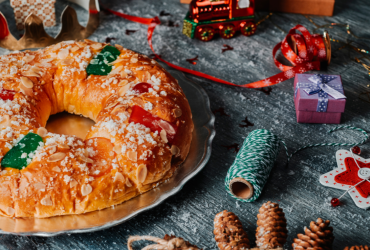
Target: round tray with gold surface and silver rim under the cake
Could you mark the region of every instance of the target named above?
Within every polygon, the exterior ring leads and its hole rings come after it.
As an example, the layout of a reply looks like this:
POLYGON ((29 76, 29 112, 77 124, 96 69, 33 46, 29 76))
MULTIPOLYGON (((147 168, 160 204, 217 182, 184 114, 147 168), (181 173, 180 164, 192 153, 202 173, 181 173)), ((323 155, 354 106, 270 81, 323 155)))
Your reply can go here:
POLYGON ((187 181, 199 173, 211 156, 211 144, 215 136, 215 118, 210 109, 209 98, 200 85, 186 79, 183 73, 165 68, 179 81, 184 90, 194 121, 189 155, 174 176, 145 194, 100 211, 44 219, 0 216, 0 233, 50 237, 107 229, 158 206, 168 197, 179 192, 187 181))

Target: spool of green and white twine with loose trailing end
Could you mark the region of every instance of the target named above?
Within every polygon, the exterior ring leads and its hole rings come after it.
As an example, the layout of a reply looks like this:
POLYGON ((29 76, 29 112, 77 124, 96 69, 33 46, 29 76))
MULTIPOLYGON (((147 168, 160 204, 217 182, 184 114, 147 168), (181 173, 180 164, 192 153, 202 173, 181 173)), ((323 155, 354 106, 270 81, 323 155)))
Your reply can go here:
POLYGON ((266 129, 257 129, 252 131, 244 140, 242 148, 236 155, 233 165, 230 167, 225 186, 227 192, 235 199, 242 202, 255 201, 262 193, 270 172, 278 156, 280 143, 283 144, 288 161, 297 152, 312 147, 319 146, 356 146, 363 144, 368 139, 366 131, 352 126, 338 126, 329 131, 329 133, 338 129, 347 128, 360 131, 365 138, 358 143, 318 143, 310 144, 296 150, 291 155, 288 154, 284 141, 266 129))

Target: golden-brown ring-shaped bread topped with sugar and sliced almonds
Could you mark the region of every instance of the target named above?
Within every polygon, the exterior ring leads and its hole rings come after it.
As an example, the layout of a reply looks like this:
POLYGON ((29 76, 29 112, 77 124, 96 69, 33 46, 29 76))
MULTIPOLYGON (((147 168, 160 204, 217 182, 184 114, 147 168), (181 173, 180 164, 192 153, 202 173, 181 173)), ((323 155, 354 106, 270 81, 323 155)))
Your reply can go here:
POLYGON ((50 217, 120 204, 172 176, 190 148, 193 121, 177 83, 156 61, 116 45, 108 76, 86 74, 106 44, 62 42, 0 56, 0 158, 28 132, 43 137, 28 166, 0 173, 0 215, 50 217), (150 83, 148 93, 132 88, 150 83), (129 123, 134 105, 178 126, 172 147, 163 135, 129 123), (51 114, 67 111, 96 122, 85 140, 47 132, 51 114))

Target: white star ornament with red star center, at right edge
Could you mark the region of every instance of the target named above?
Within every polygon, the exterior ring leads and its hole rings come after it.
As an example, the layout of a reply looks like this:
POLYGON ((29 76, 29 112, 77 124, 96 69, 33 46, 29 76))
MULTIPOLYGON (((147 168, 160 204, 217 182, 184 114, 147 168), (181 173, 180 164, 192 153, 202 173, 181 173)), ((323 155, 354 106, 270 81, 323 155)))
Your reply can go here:
POLYGON ((324 186, 349 190, 355 204, 363 209, 370 207, 370 159, 351 154, 348 150, 336 153, 338 168, 320 176, 324 186), (353 158, 355 157, 355 159, 353 158), (352 188, 354 187, 354 188, 352 188))

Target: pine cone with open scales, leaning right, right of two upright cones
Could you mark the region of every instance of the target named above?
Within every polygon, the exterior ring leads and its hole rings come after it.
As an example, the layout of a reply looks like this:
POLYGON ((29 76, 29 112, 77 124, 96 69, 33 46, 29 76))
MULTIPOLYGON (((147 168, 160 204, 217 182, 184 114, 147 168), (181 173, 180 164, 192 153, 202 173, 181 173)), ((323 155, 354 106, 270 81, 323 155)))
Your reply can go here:
POLYGON ((329 227, 330 221, 311 221, 310 229, 304 228, 305 234, 298 234, 292 244, 294 250, 331 250, 333 245, 333 228, 329 227))

